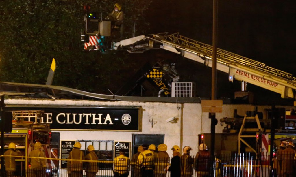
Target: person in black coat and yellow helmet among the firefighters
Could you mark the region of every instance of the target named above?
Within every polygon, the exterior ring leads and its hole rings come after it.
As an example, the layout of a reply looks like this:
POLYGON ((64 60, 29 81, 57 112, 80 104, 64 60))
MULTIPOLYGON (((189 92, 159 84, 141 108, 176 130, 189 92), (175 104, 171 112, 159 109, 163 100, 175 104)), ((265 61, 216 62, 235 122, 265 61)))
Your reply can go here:
POLYGON ((171 177, 180 177, 181 176, 180 148, 178 145, 174 145, 171 150, 173 151, 173 158, 170 161, 170 167, 167 166, 167 170, 170 171, 171 177))

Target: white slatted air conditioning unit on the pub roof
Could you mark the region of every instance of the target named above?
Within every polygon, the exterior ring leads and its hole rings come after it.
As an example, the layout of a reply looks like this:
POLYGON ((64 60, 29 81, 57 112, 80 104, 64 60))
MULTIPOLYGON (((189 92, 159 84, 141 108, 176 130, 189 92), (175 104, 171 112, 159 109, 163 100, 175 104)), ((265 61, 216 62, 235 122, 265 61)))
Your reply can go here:
POLYGON ((172 82, 172 97, 195 97, 195 83, 172 82))

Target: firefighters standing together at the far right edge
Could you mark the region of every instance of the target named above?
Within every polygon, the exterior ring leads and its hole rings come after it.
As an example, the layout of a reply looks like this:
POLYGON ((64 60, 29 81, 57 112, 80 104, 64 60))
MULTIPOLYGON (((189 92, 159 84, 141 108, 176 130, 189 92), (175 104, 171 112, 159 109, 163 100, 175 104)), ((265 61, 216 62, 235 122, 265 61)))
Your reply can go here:
POLYGON ((295 176, 296 150, 292 141, 282 141, 277 155, 273 158, 274 174, 280 177, 295 176))

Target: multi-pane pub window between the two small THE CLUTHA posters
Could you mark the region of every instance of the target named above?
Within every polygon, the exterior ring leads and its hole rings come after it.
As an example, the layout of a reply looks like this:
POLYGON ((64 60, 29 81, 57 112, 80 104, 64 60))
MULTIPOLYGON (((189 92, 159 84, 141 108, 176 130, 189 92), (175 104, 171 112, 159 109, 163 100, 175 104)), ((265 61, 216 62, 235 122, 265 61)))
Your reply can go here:
POLYGON ((99 163, 100 170, 112 170, 113 168, 113 154, 114 154, 114 141, 110 140, 78 140, 81 143, 81 150, 84 155, 88 154, 87 147, 94 146, 94 151, 98 156, 98 160, 104 162, 99 163))

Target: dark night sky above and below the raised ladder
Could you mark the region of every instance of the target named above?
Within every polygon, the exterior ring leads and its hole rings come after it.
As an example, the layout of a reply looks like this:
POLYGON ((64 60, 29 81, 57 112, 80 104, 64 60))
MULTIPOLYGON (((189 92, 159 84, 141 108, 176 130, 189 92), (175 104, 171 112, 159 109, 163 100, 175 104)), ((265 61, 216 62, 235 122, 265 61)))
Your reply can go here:
MULTIPOLYGON (((212 0, 153 1, 147 16, 149 33, 180 32, 180 35, 212 45, 212 0)), ((296 1, 218 0, 218 48, 266 63, 295 77, 295 5, 296 1)), ((160 58, 178 60, 178 56, 168 53, 160 58)), ((197 83, 198 96, 210 96, 211 68, 177 60, 176 68, 187 71, 183 79, 197 83)), ((182 76, 182 72, 180 74, 182 76)), ((234 91, 240 90, 240 83, 229 83, 227 74, 218 73, 217 87, 217 97, 233 98, 234 91)), ((250 84, 248 88, 255 91, 260 100, 280 99, 279 94, 266 89, 250 84)))

